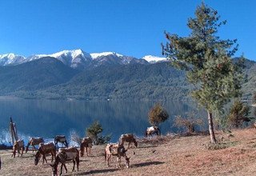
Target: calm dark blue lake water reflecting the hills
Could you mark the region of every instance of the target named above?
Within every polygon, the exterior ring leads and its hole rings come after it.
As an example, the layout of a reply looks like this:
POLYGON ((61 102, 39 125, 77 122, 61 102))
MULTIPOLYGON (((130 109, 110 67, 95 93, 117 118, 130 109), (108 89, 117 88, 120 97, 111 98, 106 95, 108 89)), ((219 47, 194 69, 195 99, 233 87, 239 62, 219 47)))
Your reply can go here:
MULTIPOLYGON (((155 102, 122 101, 62 101, 30 100, 22 98, 0 98, 0 142, 9 142, 10 116, 16 123, 18 135, 26 141, 29 137, 54 138, 57 134, 70 137, 76 131, 81 137, 86 127, 98 120, 103 127, 102 134, 112 134, 111 142, 116 142, 121 134, 134 133, 142 136, 150 126, 147 114, 155 102)), ((160 125, 162 134, 175 133, 173 118, 193 112, 206 116, 192 102, 162 102, 170 118, 160 125)))

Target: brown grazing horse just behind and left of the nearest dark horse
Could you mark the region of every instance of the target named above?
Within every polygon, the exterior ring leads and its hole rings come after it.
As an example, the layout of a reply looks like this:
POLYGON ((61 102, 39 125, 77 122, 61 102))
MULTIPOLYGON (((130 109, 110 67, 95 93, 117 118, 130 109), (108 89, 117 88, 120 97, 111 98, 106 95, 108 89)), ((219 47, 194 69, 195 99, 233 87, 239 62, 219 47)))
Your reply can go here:
POLYGON ((34 156, 35 157, 34 158, 34 165, 38 165, 38 162, 39 162, 39 159, 41 158, 41 155, 42 155, 42 164, 45 161, 47 163, 46 154, 51 154, 51 162, 53 162, 54 158, 56 156, 56 150, 55 150, 55 146, 54 146, 53 142, 46 143, 46 144, 41 143, 39 145, 38 151, 34 156))

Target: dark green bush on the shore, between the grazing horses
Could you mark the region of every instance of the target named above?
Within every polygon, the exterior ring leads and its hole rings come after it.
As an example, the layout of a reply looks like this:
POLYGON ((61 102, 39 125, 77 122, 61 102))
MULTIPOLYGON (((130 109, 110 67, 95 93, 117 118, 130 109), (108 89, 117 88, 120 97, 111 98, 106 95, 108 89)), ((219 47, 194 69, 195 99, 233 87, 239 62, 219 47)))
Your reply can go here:
POLYGON ((94 145, 106 144, 110 141, 111 134, 102 136, 100 135, 103 131, 100 122, 93 122, 88 128, 86 128, 86 136, 89 136, 94 141, 94 145))

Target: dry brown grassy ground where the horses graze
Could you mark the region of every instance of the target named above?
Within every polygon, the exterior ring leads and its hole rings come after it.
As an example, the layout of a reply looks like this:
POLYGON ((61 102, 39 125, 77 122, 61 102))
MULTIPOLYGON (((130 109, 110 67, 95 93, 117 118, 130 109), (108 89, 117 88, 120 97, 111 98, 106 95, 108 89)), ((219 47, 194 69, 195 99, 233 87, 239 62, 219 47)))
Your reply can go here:
MULTIPOLYGON (((127 151, 130 168, 116 169, 116 158, 106 166, 105 146, 93 146, 91 157, 80 158, 79 171, 71 172, 73 163, 67 164, 64 175, 255 175, 256 130, 233 130, 232 135, 217 133, 225 149, 208 150, 210 137, 165 138, 160 143, 138 143, 138 148, 127 151)), ((155 139, 153 139, 155 140, 155 139)), ((49 163, 34 166, 34 154, 29 151, 22 157, 11 158, 10 150, 0 150, 1 175, 51 175, 49 163)), ((50 162, 50 156, 47 157, 50 162)))

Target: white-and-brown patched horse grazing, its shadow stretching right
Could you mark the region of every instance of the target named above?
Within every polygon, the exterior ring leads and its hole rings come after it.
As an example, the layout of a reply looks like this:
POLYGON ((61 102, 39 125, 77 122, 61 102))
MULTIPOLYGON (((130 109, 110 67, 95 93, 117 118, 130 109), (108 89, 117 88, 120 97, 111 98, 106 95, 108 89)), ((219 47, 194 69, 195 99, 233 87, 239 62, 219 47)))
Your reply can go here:
POLYGON ((124 146, 119 146, 118 144, 107 144, 105 148, 105 160, 106 165, 110 166, 110 157, 111 155, 117 156, 117 168, 121 167, 121 157, 126 159, 126 167, 130 167, 130 158, 126 156, 126 149, 124 146))

